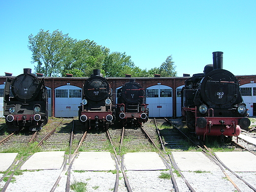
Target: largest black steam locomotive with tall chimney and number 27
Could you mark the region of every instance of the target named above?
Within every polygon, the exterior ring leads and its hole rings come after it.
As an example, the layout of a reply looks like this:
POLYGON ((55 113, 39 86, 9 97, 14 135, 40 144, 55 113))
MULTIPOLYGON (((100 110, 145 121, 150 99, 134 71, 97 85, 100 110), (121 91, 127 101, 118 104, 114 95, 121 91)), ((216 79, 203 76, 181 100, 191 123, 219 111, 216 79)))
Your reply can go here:
POLYGON ((182 114, 187 127, 203 139, 213 135, 224 141, 224 135, 230 139, 240 134, 240 127, 250 126, 238 81, 223 69, 223 52, 213 52, 213 64, 185 81, 182 114))

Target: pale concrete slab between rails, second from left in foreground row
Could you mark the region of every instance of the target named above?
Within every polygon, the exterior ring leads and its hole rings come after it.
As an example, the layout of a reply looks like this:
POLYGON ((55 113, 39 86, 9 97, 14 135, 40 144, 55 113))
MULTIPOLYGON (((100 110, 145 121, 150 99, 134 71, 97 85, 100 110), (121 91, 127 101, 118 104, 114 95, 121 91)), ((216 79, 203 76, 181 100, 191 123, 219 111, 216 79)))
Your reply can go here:
POLYGON ((35 153, 21 166, 21 169, 60 169, 64 161, 64 154, 64 151, 43 151, 35 153))

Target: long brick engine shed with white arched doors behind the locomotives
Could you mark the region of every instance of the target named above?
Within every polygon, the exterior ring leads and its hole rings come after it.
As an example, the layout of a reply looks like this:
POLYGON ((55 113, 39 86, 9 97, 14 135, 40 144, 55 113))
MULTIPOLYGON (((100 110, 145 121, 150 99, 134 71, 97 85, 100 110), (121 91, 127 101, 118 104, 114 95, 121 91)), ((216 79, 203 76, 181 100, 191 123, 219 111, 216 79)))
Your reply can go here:
MULTIPOLYGON (((5 73, 11 75, 10 73, 5 73)), ((45 77, 49 95, 49 114, 55 117, 77 116, 81 102, 81 90, 88 77, 45 77)), ((236 76, 250 116, 256 116, 256 75, 236 76)), ((131 77, 146 90, 146 103, 150 117, 181 116, 180 91, 189 77, 131 77)), ((129 77, 106 78, 113 90, 113 104, 116 104, 116 90, 129 81, 129 77)), ((0 116, 2 116, 3 89, 6 76, 0 76, 0 116)))

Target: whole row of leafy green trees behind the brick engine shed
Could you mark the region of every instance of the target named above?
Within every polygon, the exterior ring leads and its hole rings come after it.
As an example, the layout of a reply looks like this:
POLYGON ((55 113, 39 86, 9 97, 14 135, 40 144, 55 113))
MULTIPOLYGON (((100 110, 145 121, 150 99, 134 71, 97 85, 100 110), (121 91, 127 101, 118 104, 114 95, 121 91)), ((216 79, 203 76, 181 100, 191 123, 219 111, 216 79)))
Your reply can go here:
POLYGON ((150 70, 140 69, 126 53, 112 52, 109 48, 97 45, 89 39, 72 39, 61 31, 40 30, 35 36, 29 35, 29 49, 32 51, 32 63, 35 71, 44 76, 65 76, 66 73, 76 77, 90 76, 93 69, 101 69, 106 77, 162 77, 176 76, 174 62, 169 56, 160 67, 150 70))

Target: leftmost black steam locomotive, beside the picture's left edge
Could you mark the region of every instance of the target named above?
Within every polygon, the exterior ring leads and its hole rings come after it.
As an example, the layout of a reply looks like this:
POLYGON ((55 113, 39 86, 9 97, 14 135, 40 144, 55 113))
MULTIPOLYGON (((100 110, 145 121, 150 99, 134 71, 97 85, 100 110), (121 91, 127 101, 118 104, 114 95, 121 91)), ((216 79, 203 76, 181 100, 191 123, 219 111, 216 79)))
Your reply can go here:
POLYGON ((36 77, 30 68, 17 77, 7 77, 3 96, 3 115, 7 129, 40 130, 48 122, 48 102, 44 78, 36 77))

